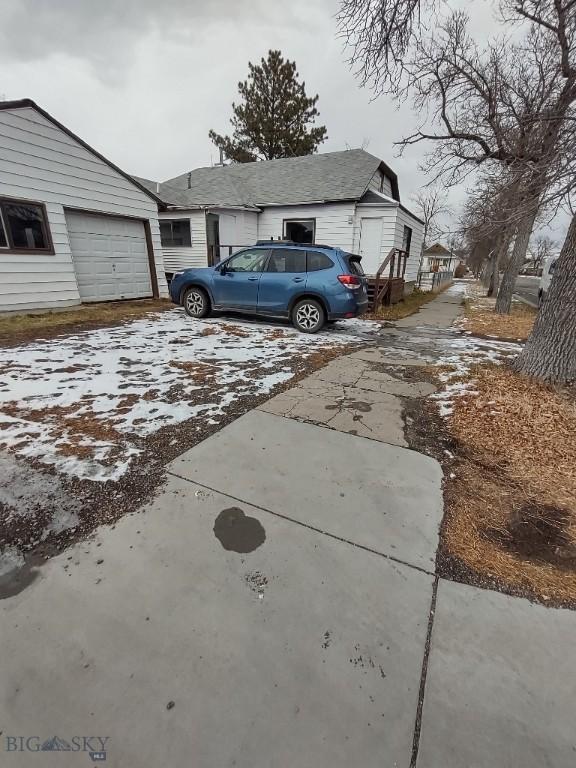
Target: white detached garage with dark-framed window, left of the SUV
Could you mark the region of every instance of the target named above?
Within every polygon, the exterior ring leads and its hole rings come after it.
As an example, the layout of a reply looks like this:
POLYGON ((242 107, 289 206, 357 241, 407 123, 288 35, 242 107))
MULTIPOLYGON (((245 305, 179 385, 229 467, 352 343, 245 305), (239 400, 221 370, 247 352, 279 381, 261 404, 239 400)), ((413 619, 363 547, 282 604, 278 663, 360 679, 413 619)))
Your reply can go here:
POLYGON ((167 295, 159 202, 33 101, 0 102, 0 311, 167 295))

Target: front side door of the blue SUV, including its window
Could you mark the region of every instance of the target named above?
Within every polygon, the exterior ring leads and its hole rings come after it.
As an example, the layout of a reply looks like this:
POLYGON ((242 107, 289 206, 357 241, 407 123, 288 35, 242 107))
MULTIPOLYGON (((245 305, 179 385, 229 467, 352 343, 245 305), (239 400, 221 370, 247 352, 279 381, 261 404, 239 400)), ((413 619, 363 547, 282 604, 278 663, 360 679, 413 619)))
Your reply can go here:
POLYGON ((212 291, 219 307, 256 310, 258 306, 258 284, 266 264, 269 251, 263 248, 249 248, 234 254, 226 262, 224 273, 214 273, 212 291))

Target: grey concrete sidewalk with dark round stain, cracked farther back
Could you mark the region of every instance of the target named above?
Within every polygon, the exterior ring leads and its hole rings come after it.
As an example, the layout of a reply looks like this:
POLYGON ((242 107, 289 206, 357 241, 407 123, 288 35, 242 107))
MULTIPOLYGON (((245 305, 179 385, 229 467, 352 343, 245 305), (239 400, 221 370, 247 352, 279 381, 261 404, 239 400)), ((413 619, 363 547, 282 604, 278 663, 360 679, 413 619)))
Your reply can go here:
POLYGON ((442 472, 402 411, 459 304, 183 454, 152 504, 2 601, 3 746, 96 735, 115 768, 573 766, 576 614, 434 575, 442 472))

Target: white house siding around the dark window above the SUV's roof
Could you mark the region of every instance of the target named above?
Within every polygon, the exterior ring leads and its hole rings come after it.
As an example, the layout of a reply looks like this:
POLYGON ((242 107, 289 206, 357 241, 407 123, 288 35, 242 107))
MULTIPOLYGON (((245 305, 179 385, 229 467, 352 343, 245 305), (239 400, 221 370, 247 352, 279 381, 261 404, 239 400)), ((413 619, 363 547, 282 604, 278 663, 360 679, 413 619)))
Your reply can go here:
POLYGON ((350 251, 354 238, 354 203, 323 203, 264 208, 258 216, 258 239, 282 238, 284 219, 316 219, 316 242, 350 251))

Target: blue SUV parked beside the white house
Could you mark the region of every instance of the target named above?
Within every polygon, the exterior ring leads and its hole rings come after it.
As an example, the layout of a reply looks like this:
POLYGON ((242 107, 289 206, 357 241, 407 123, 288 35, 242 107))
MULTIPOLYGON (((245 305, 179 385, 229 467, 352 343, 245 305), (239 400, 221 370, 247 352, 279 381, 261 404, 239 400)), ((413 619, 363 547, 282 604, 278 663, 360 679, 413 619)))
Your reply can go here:
POLYGON ((360 256, 325 245, 259 241, 215 267, 177 272, 170 295, 190 317, 212 310, 289 318, 303 333, 368 307, 360 256))

